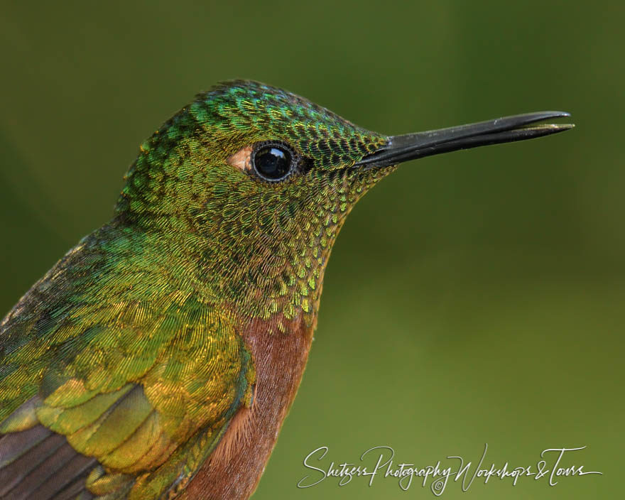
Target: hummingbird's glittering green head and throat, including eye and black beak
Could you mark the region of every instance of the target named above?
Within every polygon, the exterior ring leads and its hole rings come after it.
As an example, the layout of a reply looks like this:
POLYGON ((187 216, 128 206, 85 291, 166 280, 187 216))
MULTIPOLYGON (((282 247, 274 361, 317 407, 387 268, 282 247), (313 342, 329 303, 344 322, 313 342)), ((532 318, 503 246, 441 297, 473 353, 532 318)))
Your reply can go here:
POLYGON ((278 330, 298 315, 310 325, 347 214, 398 163, 553 134, 570 126, 528 124, 566 115, 384 136, 285 90, 224 82, 143 143, 116 215, 166 242, 205 300, 278 330))

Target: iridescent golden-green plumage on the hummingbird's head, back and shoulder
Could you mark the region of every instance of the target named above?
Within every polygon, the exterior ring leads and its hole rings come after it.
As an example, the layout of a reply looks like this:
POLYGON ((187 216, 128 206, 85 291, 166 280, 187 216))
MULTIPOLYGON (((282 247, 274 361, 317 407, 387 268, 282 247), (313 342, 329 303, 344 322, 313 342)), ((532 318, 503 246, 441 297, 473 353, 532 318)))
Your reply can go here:
POLYGON ((242 322, 284 335, 284 320, 315 321, 347 213, 391 170, 345 167, 384 141, 256 82, 200 94, 143 143, 112 222, 2 322, 0 434, 67 437, 94 459, 92 496, 175 495, 251 404, 242 322), (305 158, 299 175, 266 183, 226 164, 268 139, 305 158))

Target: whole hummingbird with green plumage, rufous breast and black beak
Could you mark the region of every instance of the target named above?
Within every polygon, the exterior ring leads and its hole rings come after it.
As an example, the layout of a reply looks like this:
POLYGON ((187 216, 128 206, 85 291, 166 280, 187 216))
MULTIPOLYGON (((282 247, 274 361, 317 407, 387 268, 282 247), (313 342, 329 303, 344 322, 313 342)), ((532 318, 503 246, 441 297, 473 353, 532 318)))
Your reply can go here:
POLYGON ((399 163, 563 116, 386 136, 260 82, 198 94, 0 322, 0 499, 249 498, 356 202, 399 163))

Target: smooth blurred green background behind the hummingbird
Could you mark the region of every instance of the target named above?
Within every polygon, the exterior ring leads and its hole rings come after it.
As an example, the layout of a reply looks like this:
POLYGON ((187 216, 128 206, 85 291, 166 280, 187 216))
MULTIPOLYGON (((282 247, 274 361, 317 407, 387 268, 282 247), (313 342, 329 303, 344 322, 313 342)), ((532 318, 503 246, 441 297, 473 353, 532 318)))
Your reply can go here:
MULTIPOLYGON (((376 445, 603 476, 477 482, 480 499, 617 498, 624 431, 621 2, 2 1, 0 309, 107 222, 138 144, 246 77, 398 134, 542 109, 577 128, 408 163, 352 212, 298 398, 254 498, 433 498, 391 479, 309 489, 303 457, 376 445)), ((452 464, 452 462, 449 462, 452 464)))

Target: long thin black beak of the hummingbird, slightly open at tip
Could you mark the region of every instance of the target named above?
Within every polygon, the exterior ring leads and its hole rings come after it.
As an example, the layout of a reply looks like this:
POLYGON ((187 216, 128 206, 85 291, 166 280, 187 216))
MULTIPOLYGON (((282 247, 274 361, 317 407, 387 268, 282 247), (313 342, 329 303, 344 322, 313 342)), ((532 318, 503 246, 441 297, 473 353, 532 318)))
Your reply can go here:
POLYGON ((538 121, 561 118, 562 116, 570 116, 570 114, 560 111, 517 114, 481 121, 477 124, 453 126, 449 129, 391 136, 386 146, 365 156, 356 163, 356 166, 364 168, 388 167, 424 156, 503 142, 525 141, 526 139, 548 136, 572 129, 574 126, 572 124, 536 124, 538 121), (529 126, 530 124, 536 125, 529 126))

